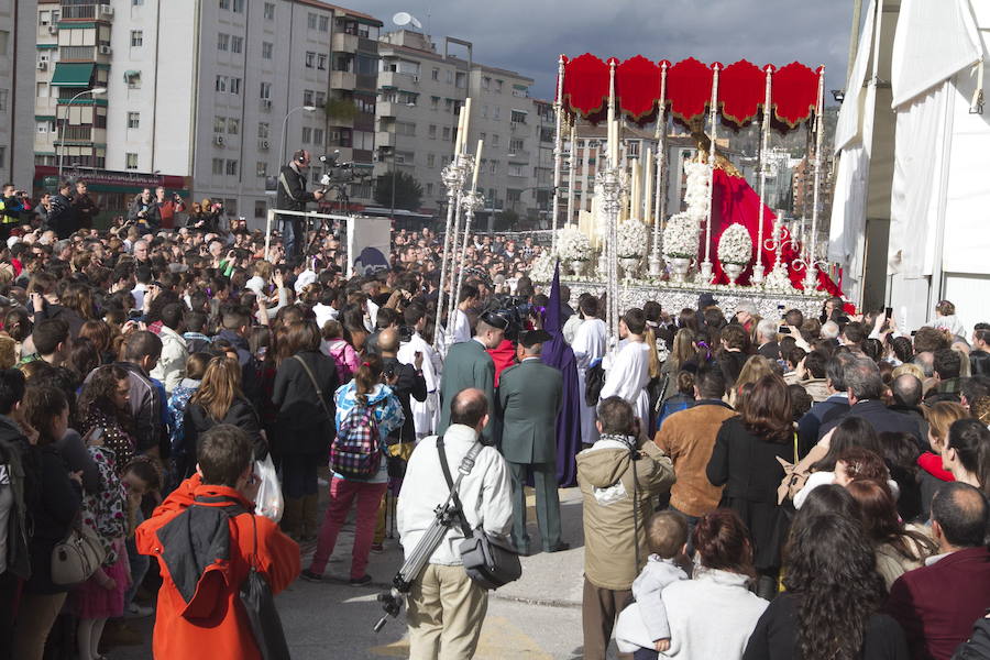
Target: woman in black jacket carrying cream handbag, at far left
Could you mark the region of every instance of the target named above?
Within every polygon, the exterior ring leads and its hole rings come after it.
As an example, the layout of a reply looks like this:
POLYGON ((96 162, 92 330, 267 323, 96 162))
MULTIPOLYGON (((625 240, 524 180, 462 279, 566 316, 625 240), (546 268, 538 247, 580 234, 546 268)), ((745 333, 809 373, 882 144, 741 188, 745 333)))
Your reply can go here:
POLYGON ((41 660, 48 631, 65 603, 68 587, 52 581, 52 552, 68 534, 82 502, 80 474, 66 472, 55 441, 68 429, 68 402, 48 385, 29 387, 21 404, 24 422, 37 435, 32 458, 37 487, 28 501, 32 535, 31 578, 18 612, 13 657, 41 660))

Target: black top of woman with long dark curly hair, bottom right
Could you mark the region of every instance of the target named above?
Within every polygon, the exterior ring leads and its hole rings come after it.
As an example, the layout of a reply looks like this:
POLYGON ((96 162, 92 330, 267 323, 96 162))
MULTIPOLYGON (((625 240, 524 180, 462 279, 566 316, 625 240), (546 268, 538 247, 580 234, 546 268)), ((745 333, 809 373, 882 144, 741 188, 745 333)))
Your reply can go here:
MULTIPOLYGON (((749 636, 743 660, 791 660, 800 658, 798 650, 798 596, 783 593, 763 610, 749 636)), ((862 639, 865 660, 909 660, 904 630, 892 617, 873 614, 867 622, 862 639)), ((974 656, 983 658, 985 656, 974 656)), ((966 656, 969 658, 969 656, 966 656)))

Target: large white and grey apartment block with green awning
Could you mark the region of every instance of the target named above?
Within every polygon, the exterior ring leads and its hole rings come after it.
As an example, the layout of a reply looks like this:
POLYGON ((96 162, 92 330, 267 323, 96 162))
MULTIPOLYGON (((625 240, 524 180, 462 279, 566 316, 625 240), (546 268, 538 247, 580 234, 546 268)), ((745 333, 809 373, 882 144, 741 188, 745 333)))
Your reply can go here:
MULTIPOLYGON (((36 14, 46 174, 61 161, 96 179, 183 177, 193 197, 257 227, 274 201, 266 179, 295 150, 340 150, 371 170, 373 16, 319 0, 40 0, 36 14)), ((102 206, 123 208, 123 188, 102 206)), ((367 201, 371 185, 350 193, 367 201)))

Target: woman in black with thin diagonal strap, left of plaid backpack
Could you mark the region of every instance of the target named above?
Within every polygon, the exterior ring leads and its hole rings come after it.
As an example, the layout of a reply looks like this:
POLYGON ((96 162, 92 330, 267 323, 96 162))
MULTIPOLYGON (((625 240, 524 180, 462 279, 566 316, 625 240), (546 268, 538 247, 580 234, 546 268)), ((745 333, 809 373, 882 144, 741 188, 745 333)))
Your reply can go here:
POLYGON ((285 342, 292 358, 278 365, 272 392, 282 431, 275 442, 285 494, 282 528, 305 540, 316 538, 319 529, 317 468, 327 464, 330 441, 337 432, 333 394, 340 383, 337 363, 320 352, 320 330, 315 321, 290 323, 285 342))

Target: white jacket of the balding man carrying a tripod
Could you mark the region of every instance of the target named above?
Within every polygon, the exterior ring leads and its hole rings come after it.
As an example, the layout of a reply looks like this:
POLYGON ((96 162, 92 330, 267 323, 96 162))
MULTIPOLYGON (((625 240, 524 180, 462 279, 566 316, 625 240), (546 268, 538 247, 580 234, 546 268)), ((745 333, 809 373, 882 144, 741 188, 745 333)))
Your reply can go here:
MULTIPOLYGON (((459 424, 451 425, 443 433, 447 464, 454 481, 458 479, 461 459, 474 444, 475 438, 474 429, 459 424)), ((425 438, 409 457, 404 487, 398 498, 396 520, 406 559, 437 518, 433 509, 443 504, 449 495, 450 488, 447 487, 447 480, 440 468, 437 438, 425 438)), ((481 525, 488 534, 503 537, 508 535, 513 526, 512 486, 505 459, 497 449, 485 447, 481 450, 471 473, 461 481, 458 496, 464 506, 464 517, 472 528, 481 525)), ((451 527, 430 557, 430 563, 461 565, 458 546, 463 538, 460 526, 451 527)))

